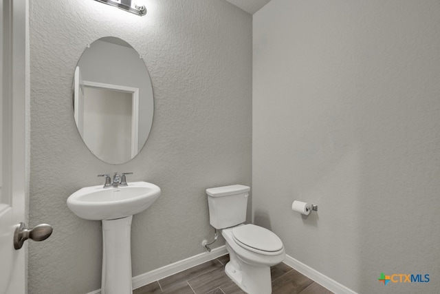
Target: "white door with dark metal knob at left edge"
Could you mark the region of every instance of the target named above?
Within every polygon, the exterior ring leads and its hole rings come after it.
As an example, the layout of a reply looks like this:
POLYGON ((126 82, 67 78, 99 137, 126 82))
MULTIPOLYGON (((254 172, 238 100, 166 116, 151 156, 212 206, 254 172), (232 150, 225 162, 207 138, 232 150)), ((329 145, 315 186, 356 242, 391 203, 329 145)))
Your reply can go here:
POLYGON ((16 224, 25 221, 26 1, 0 0, 0 294, 24 294, 25 250, 15 250, 16 224))

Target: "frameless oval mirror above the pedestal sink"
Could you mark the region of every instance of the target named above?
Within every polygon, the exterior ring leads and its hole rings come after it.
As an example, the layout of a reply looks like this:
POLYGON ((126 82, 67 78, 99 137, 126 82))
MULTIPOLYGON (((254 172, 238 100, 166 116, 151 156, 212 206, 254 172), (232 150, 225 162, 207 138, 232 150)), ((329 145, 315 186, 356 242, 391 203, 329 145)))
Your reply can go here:
POLYGON ((72 88, 76 127, 91 153, 115 165, 135 157, 154 110, 150 75, 136 50, 111 36, 94 41, 76 65, 72 88))

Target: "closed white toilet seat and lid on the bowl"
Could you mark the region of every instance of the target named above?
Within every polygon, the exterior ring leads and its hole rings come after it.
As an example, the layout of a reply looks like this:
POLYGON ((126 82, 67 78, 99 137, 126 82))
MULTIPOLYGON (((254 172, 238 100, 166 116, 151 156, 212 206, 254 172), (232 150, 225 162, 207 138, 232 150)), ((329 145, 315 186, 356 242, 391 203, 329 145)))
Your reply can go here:
POLYGON ((283 242, 275 233, 254 224, 232 229, 232 239, 244 249, 263 255, 278 255, 284 250, 283 242))

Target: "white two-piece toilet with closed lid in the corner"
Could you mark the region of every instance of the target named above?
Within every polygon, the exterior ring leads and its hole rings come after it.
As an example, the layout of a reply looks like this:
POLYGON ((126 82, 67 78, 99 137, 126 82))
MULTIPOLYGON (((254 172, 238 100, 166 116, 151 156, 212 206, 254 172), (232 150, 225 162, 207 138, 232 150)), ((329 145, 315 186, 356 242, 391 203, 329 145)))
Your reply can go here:
POLYGON ((230 262, 225 273, 248 294, 272 293, 270 266, 283 262, 283 242, 272 231, 244 224, 250 187, 206 189, 210 224, 221 229, 230 262))

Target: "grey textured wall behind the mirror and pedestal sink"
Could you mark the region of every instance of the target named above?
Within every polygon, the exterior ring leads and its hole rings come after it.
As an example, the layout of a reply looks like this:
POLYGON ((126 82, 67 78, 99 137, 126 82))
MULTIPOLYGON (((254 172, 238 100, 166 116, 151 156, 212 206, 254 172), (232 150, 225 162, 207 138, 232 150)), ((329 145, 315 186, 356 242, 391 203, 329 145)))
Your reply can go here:
MULTIPOLYGON (((251 184, 252 17, 226 1, 148 0, 137 17, 97 1, 30 1, 30 224, 54 233, 29 246, 29 293, 100 288, 101 225, 67 197, 97 174, 133 171, 162 196, 133 218, 133 275, 203 252, 212 238, 205 189, 251 184), (130 162, 89 153, 72 115, 74 68, 87 43, 124 39, 142 56, 155 96, 153 128, 130 162)), ((217 243, 217 246, 221 242, 217 243)))

